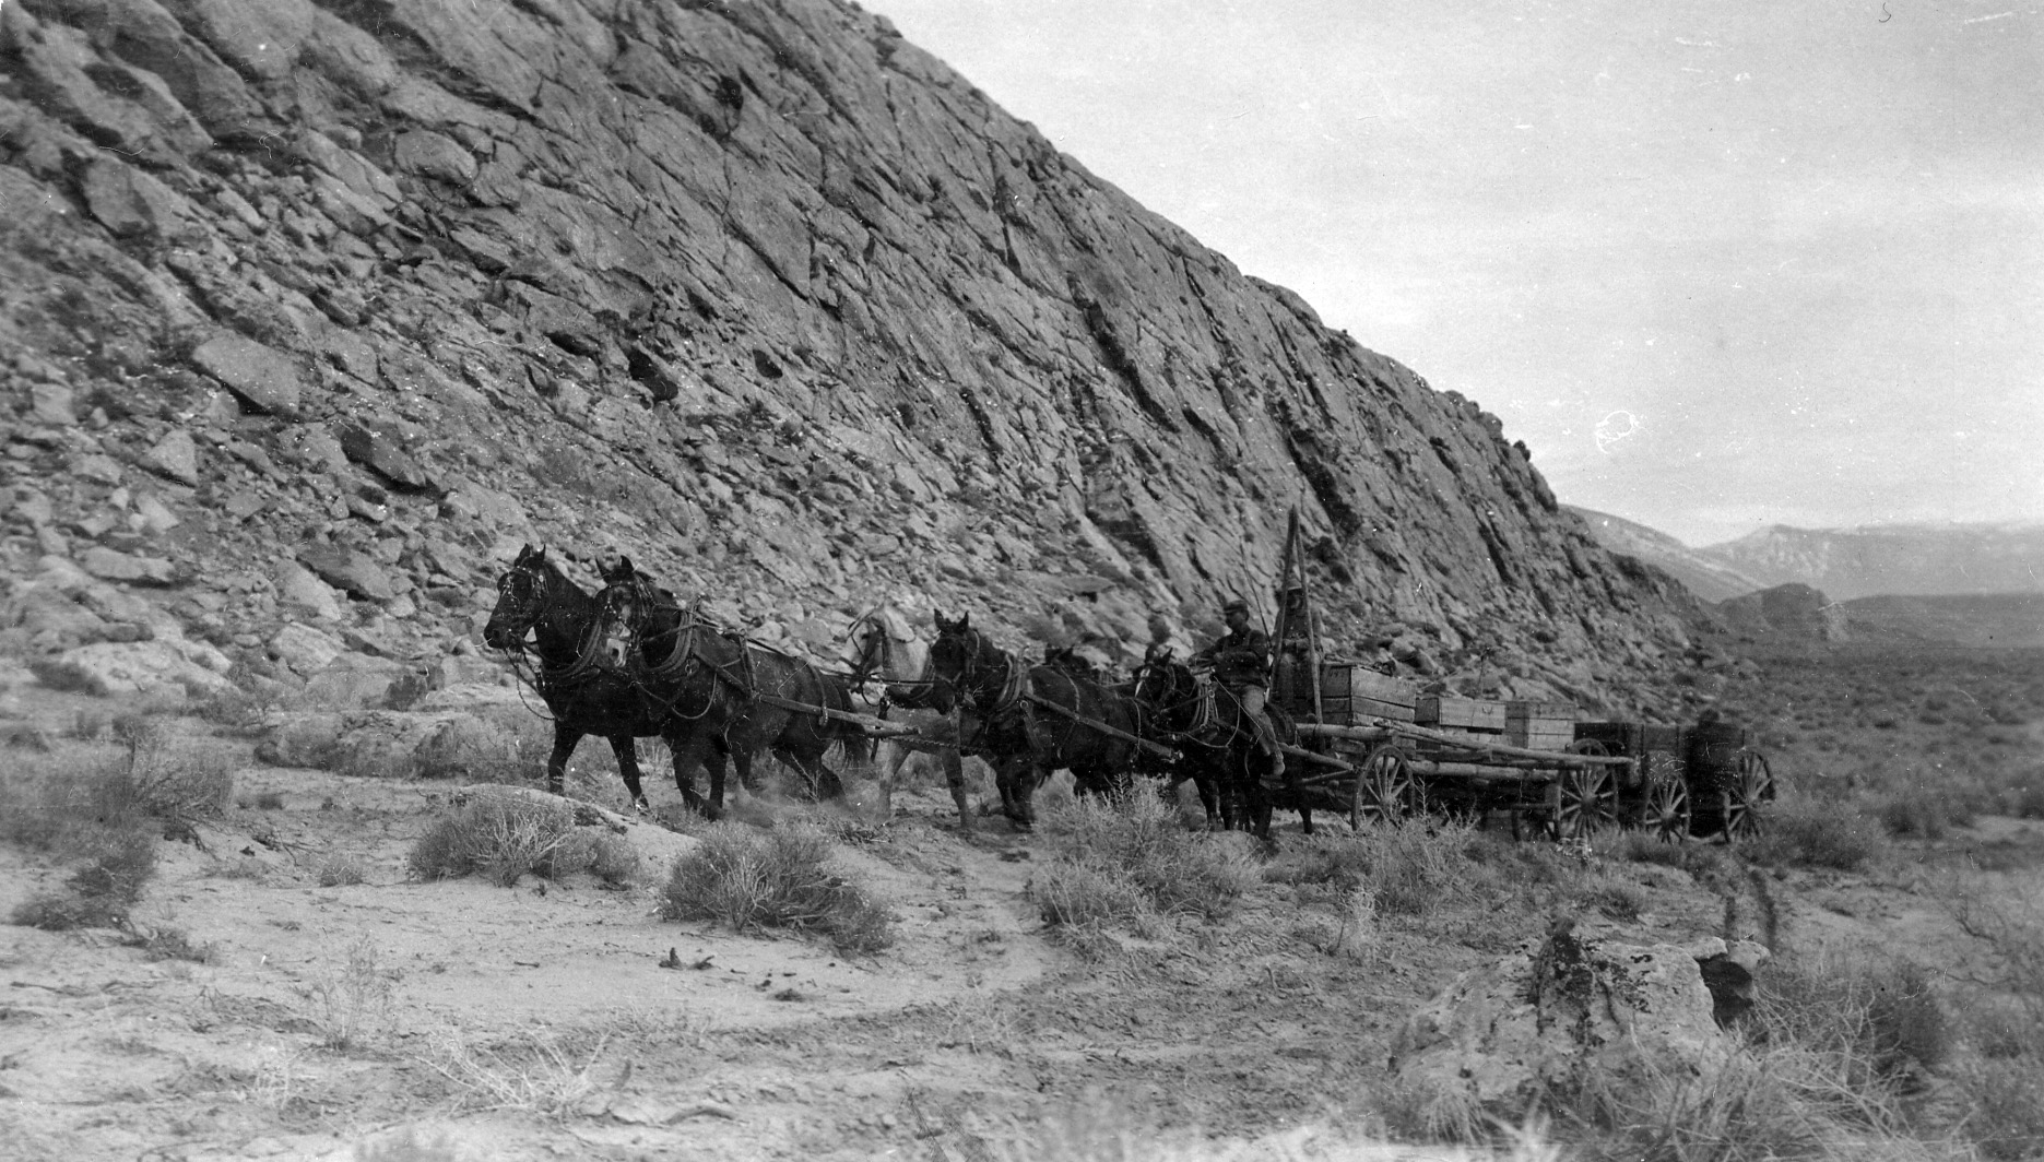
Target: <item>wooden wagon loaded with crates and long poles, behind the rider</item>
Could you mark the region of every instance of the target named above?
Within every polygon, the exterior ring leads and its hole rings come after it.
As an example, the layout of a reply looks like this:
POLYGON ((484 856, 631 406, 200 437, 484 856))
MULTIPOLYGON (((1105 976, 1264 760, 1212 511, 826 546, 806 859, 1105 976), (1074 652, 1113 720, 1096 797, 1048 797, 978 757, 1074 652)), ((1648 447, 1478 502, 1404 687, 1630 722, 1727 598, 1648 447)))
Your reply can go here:
POLYGON ((1658 839, 1760 829, 1774 776, 1752 731, 1576 721, 1570 703, 1498 703, 1425 694, 1410 680, 1327 662, 1302 680, 1280 664, 1273 700, 1292 715, 1310 768, 1292 792, 1351 825, 1443 811, 1506 813, 1564 837, 1635 827, 1658 839))

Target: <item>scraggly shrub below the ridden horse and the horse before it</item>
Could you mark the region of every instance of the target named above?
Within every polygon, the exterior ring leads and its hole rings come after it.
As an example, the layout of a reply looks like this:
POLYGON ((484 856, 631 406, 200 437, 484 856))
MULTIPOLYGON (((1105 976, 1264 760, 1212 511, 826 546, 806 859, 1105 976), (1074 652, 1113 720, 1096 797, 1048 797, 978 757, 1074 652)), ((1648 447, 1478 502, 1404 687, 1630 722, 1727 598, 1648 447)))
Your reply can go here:
POLYGON ((1069 907, 1108 907, 1124 897, 1122 886, 1141 901, 1134 911, 1122 909, 1122 919, 1139 919, 1139 913, 1218 919, 1263 878, 1243 835, 1188 831, 1149 788, 1112 798, 1047 801, 1038 833, 1049 860, 1030 894, 1049 923, 1059 923, 1055 915, 1069 907), (1075 890, 1098 890, 1100 899, 1085 903, 1073 897, 1075 890))

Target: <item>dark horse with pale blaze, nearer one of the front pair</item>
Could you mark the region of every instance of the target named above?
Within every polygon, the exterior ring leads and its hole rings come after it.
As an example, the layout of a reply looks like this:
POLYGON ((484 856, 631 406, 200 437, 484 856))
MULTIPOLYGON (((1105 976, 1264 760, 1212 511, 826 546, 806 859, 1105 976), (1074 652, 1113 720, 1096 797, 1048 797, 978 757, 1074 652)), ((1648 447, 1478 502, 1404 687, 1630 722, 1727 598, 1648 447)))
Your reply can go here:
POLYGON ((824 764, 830 747, 854 762, 871 758, 867 733, 844 715, 852 709, 850 680, 734 637, 683 609, 630 560, 605 574, 597 594, 599 635, 625 641, 625 668, 648 713, 660 715, 675 745, 675 784, 691 807, 724 811, 724 764, 709 766, 709 803, 695 792, 695 764, 728 749, 738 780, 750 790, 752 760, 771 752, 801 774, 816 798, 838 798, 844 782, 824 764))

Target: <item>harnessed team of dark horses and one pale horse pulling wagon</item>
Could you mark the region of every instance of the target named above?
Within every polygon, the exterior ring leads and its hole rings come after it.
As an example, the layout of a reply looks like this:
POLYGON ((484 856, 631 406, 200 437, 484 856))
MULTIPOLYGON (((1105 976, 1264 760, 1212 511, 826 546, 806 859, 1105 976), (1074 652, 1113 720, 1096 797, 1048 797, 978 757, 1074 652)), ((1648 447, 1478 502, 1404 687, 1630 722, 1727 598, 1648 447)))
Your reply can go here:
MULTIPOLYGON (((901 709, 942 756, 965 827, 973 819, 961 754, 977 754, 1018 827, 1034 823, 1032 796, 1051 772, 1071 770, 1079 790, 1098 794, 1136 776, 1190 778, 1210 825, 1269 835, 1269 758, 1233 694, 1167 649, 1153 647, 1130 682, 1108 684, 1069 660, 1032 666, 967 617, 938 615, 936 639, 924 645, 897 611, 883 609, 852 623, 848 670, 828 672, 711 625, 630 560, 601 564, 599 574, 603 588, 591 594, 544 547, 525 545, 497 580, 482 629, 491 647, 529 664, 554 717, 546 782, 556 794, 574 745, 597 735, 611 743, 642 811, 636 739, 644 737, 666 741, 675 786, 707 817, 724 811, 726 764, 752 788, 762 752, 795 770, 811 796, 832 798, 844 792, 824 762, 832 747, 869 760, 867 715, 901 709), (873 684, 881 694, 867 694, 873 684), (695 788, 697 768, 709 774, 707 801, 695 788)), ((891 766, 905 756, 897 749, 891 766)))

